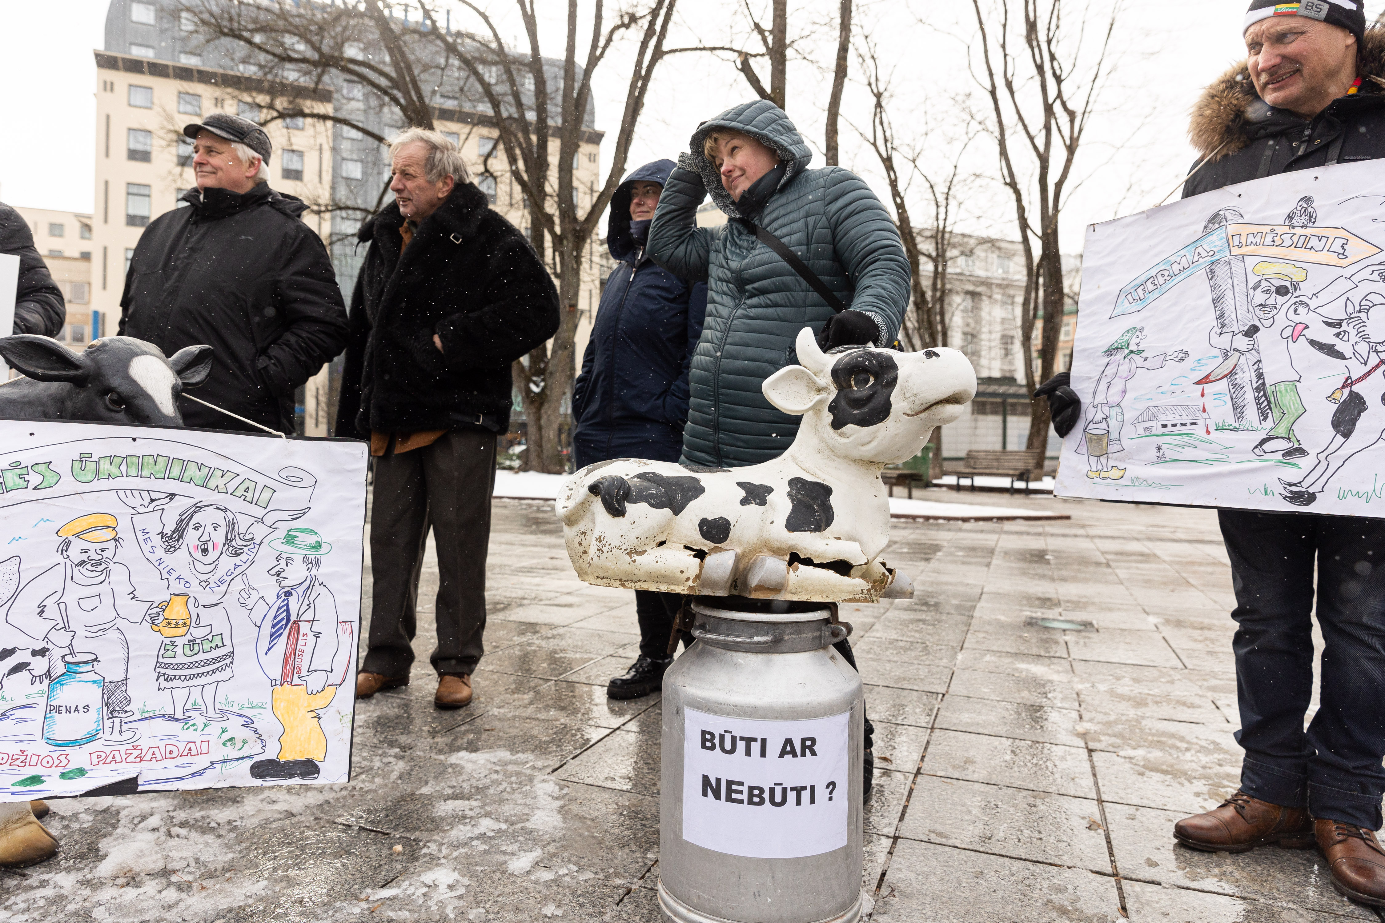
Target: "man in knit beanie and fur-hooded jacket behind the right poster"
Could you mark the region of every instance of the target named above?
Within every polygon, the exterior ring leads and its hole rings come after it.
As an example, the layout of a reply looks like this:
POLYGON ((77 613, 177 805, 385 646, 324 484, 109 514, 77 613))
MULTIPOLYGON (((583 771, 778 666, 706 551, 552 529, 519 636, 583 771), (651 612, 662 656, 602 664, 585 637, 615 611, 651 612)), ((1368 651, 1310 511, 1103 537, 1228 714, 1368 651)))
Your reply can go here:
MULTIPOLYGON (((1385 158, 1385 29, 1366 28, 1360 0, 1255 0, 1244 39, 1245 62, 1192 109, 1198 161, 1184 197, 1385 158)), ((1303 179, 1307 190, 1312 179, 1303 179)), ((1321 224, 1334 223, 1331 203, 1320 202, 1319 213, 1321 224)), ((1382 390, 1374 381, 1373 401, 1382 390)), ((1066 385, 1039 389, 1060 435, 1080 417, 1066 385)), ((1375 839, 1385 794, 1385 520, 1217 515, 1235 590, 1235 739, 1245 757, 1240 790, 1179 821, 1173 834, 1210 852, 1316 844, 1341 894, 1385 906, 1385 851, 1375 839), (1305 731, 1314 603, 1321 704, 1305 731)))

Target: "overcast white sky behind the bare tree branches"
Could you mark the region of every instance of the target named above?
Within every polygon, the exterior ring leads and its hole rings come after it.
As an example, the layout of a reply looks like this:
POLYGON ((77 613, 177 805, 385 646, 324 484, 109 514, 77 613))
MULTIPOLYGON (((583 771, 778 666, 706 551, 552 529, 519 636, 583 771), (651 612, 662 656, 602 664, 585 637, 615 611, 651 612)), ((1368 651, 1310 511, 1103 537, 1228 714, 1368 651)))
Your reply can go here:
MULTIPOLYGON (((751 0, 752 6, 769 6, 751 0)), ((994 0, 990 0, 994 1, 994 0)), ((1072 0, 1068 0, 1072 3, 1072 0)), ((796 1, 789 30, 802 37, 802 51, 825 62, 835 48, 837 0, 796 1), (816 29, 816 30, 814 30, 816 29)), ((1017 4, 1018 6, 1018 4, 1017 4)), ((1375 3, 1368 6, 1374 14, 1375 3)), ((490 7, 508 22, 507 0, 490 7)), ((539 0, 547 11, 544 40, 548 54, 561 54, 561 15, 565 4, 539 0)), ((590 10, 590 3, 583 3, 590 10)), ((1062 248, 1082 248, 1082 226, 1127 214, 1159 202, 1187 173, 1194 161, 1186 141, 1188 109, 1199 90, 1233 60, 1244 57, 1241 19, 1246 0, 1199 0, 1197 14, 1188 6, 1127 3, 1118 19, 1114 43, 1118 66, 1100 100, 1076 176, 1082 179, 1062 226, 1062 248)), ((91 50, 102 44, 107 0, 64 0, 61 4, 0 4, 4 53, 0 54, 0 199, 14 205, 90 210, 96 149, 93 89, 96 68, 91 50)), ((741 6, 733 0, 681 0, 680 22, 670 44, 753 44, 745 36, 741 6)), ((1091 0, 1093 19, 1111 8, 1108 0, 1091 0)), ((1078 7, 1073 4, 1073 14, 1078 7)), ((960 131, 954 100, 976 93, 968 75, 968 46, 975 42, 970 3, 939 0, 868 0, 856 21, 873 36, 884 61, 893 68, 896 98, 893 119, 900 141, 932 131, 927 163, 932 172, 946 166, 953 148, 946 138, 960 131)), ((454 19, 456 22, 456 19, 454 19)), ((1089 36, 1090 40, 1090 36, 1089 36)), ((580 44, 580 43, 579 43, 580 44)), ((609 166, 615 125, 622 108, 629 61, 620 50, 596 76, 597 125, 607 130, 602 165, 609 166)), ((853 79, 859 77, 855 69, 853 79)), ((766 77, 767 79, 767 77, 766 77)), ((823 109, 830 77, 812 62, 789 66, 788 111, 816 151, 823 144, 823 109)), ((644 118, 630 154, 629 169, 647 161, 674 158, 702 119, 745 100, 752 91, 729 64, 706 54, 669 58, 648 95, 644 118)), ((978 105, 983 101, 978 97, 978 105)), ((868 127, 870 108, 864 90, 852 86, 843 119, 868 127)), ((820 158, 814 158, 821 165, 820 158)), ((850 125, 842 125, 842 165, 866 176, 882 199, 888 190, 878 163, 863 148, 850 125)), ((968 148, 967 167, 979 179, 970 197, 965 230, 1014 238, 1007 223, 1012 212, 997 195, 993 177, 994 148, 981 138, 968 148)), ((911 198, 915 223, 922 216, 922 192, 911 198)))

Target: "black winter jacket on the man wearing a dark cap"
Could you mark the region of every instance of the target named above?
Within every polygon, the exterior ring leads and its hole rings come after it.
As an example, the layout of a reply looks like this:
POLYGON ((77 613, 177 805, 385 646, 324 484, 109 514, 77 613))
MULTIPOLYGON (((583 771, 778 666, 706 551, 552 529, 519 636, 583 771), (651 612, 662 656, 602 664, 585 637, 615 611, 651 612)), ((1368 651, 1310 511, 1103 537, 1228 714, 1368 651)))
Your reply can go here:
MULTIPOLYGON (((205 343, 215 361, 197 397, 291 432, 294 392, 346 345, 346 311, 327 248, 302 201, 259 184, 244 195, 190 190, 187 208, 140 235, 120 299, 122 336, 172 356, 205 343)), ((252 429, 186 397, 188 426, 252 429)))

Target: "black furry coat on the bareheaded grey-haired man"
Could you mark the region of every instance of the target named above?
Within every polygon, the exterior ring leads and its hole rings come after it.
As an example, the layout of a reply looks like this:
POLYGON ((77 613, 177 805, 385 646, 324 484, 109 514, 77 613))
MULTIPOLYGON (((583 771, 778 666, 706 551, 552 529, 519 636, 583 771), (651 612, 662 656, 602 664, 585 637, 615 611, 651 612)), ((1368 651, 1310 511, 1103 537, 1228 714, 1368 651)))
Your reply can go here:
POLYGON ((391 202, 360 227, 370 244, 350 306, 337 435, 510 423, 510 364, 558 331, 558 292, 539 255, 458 183, 400 255, 391 202), (442 351, 434 335, 442 339, 442 351))

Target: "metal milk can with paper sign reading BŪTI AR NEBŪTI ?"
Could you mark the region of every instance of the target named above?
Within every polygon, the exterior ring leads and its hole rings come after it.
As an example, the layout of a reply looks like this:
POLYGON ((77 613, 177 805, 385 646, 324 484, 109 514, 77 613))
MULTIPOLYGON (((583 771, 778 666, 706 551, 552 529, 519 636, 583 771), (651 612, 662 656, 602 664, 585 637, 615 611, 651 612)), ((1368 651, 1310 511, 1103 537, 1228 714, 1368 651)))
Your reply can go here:
POLYGON ((704 596, 663 675, 659 906, 677 923, 855 923, 860 675, 823 603, 704 596))

